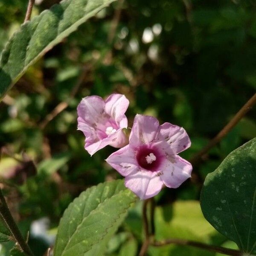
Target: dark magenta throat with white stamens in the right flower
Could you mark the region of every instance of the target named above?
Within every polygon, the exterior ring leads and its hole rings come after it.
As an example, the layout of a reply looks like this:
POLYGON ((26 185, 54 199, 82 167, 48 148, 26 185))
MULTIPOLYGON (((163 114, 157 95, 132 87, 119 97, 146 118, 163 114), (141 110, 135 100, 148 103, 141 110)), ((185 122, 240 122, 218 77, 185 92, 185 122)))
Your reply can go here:
POLYGON ((151 172, 156 172, 160 166, 163 156, 157 148, 147 145, 138 148, 136 159, 140 167, 151 172))

